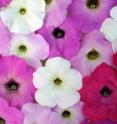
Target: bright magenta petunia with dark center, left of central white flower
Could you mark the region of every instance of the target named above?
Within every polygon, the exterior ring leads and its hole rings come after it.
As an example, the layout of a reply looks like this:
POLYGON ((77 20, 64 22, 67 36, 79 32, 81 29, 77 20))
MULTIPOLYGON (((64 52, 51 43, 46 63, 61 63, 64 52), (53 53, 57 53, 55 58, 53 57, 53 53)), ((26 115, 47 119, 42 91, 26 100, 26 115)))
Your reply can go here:
POLYGON ((0 97, 11 106, 20 108, 26 102, 34 101, 32 84, 34 70, 16 56, 0 58, 0 97))

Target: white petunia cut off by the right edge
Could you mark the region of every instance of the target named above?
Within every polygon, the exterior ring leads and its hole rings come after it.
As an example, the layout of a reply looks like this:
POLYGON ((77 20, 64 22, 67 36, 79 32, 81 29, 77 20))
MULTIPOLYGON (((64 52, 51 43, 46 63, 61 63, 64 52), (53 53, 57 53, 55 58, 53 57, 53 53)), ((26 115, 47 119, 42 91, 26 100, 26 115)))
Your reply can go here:
POLYGON ((105 19, 102 23, 100 31, 105 35, 113 47, 114 52, 117 51, 117 6, 110 11, 111 18, 105 19))

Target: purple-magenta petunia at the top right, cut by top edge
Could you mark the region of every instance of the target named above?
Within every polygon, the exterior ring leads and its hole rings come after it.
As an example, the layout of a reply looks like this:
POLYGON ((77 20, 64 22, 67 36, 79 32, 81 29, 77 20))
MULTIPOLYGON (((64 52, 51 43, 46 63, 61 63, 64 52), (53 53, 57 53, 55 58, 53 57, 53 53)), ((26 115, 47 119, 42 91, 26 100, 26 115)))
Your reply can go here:
POLYGON ((98 28, 109 16, 114 0, 73 0, 69 15, 73 16, 82 32, 98 28))

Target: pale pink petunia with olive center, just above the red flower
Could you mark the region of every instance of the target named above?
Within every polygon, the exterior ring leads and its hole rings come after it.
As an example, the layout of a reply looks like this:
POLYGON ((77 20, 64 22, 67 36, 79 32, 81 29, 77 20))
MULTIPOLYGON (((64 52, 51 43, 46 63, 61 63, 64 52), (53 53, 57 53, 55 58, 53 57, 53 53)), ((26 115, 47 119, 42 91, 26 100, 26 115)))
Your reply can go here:
POLYGON ((71 59, 71 63, 83 76, 90 74, 96 66, 103 62, 112 65, 113 50, 111 44, 105 40, 99 31, 94 30, 85 35, 81 42, 81 49, 71 59))

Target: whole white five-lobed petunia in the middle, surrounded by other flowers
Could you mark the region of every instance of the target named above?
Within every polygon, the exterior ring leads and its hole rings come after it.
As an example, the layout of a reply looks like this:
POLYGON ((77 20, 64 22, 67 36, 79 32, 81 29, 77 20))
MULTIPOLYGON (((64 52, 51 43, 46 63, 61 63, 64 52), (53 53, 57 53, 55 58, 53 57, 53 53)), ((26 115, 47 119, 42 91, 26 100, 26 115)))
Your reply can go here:
POLYGON ((35 99, 41 105, 66 108, 80 100, 77 90, 82 88, 82 76, 70 68, 68 60, 54 57, 47 60, 33 75, 34 86, 39 89, 35 99))

